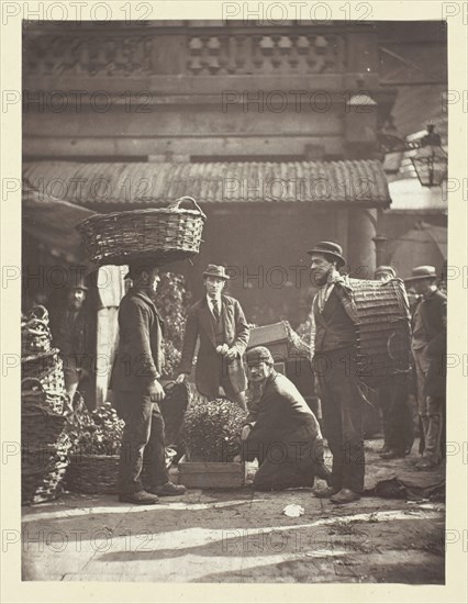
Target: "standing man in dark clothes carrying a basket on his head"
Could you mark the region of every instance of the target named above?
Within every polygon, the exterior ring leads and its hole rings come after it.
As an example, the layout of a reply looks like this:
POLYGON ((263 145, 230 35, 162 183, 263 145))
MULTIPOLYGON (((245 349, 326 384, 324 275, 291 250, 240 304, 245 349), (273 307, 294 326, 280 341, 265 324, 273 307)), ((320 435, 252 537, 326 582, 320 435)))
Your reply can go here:
POLYGON ((119 351, 111 388, 114 406, 124 420, 119 467, 119 500, 154 504, 158 496, 181 495, 182 484, 169 481, 165 462, 165 425, 158 403, 165 398, 160 383, 164 366, 164 322, 153 301, 160 281, 155 265, 135 262, 127 277, 133 288, 119 307, 119 351), (142 482, 145 465, 148 485, 142 482))

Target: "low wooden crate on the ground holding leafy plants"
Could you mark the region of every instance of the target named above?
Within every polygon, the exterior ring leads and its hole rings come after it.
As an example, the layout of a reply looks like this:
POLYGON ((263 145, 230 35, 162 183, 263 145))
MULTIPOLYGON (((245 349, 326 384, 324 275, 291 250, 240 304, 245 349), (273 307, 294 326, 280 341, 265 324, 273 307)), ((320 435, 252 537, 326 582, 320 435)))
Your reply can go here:
POLYGON ((179 461, 179 482, 188 489, 238 489, 245 485, 246 465, 235 461, 179 461))

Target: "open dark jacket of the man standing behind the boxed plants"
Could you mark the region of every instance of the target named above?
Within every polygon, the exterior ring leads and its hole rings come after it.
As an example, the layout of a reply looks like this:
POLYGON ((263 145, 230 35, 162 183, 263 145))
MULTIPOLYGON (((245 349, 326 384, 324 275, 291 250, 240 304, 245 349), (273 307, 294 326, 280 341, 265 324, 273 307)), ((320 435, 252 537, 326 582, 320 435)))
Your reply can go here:
MULTIPOLYGON (((229 365, 229 377, 233 391, 244 392, 247 387, 242 356, 248 344, 250 329, 245 320, 241 304, 229 295, 221 297, 221 317, 223 321, 224 343, 237 349, 237 357, 229 365)), ((216 395, 221 379, 221 355, 216 353, 216 338, 211 311, 207 297, 196 302, 190 309, 179 372, 190 373, 197 340, 200 348, 197 356, 196 383, 197 389, 205 395, 216 395)))

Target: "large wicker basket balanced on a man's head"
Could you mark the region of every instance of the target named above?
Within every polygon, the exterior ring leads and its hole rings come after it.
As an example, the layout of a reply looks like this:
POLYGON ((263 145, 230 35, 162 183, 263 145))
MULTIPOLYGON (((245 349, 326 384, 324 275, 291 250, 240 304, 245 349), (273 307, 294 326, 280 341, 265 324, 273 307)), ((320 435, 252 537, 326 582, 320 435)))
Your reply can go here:
POLYGON ((94 265, 146 259, 166 264, 199 253, 205 220, 196 200, 183 197, 168 208, 97 214, 79 223, 77 230, 94 265), (183 201, 193 208, 182 209, 183 201))

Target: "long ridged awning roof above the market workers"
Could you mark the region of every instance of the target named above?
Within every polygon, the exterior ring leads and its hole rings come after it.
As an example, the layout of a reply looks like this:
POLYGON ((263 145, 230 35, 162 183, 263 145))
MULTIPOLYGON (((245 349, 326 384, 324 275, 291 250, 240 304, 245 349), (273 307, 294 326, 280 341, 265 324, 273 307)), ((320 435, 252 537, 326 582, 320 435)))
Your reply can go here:
POLYGON ((380 161, 75 163, 35 161, 23 176, 45 194, 90 205, 148 206, 191 195, 209 202, 310 202, 386 206, 380 161))

